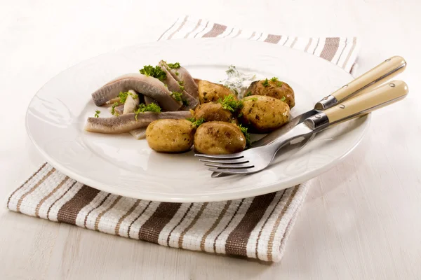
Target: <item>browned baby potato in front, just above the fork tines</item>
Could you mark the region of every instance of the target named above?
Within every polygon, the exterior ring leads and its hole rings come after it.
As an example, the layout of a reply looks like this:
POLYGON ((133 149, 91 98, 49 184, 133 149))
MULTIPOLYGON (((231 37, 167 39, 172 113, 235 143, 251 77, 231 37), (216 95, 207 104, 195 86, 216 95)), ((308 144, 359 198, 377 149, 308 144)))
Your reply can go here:
POLYGON ((194 134, 194 148, 208 155, 239 153, 246 148, 246 137, 233 123, 203 123, 194 134))

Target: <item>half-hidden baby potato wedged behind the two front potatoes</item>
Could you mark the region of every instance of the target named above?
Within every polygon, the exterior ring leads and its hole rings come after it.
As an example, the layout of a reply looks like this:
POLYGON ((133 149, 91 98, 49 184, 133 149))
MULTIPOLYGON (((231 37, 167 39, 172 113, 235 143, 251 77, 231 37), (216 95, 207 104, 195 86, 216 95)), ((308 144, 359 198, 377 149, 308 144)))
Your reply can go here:
POLYGON ((219 120, 221 122, 232 123, 235 121, 231 111, 222 108, 220 103, 204 103, 200 104, 194 110, 194 118, 200 120, 203 118, 206 122, 219 120))

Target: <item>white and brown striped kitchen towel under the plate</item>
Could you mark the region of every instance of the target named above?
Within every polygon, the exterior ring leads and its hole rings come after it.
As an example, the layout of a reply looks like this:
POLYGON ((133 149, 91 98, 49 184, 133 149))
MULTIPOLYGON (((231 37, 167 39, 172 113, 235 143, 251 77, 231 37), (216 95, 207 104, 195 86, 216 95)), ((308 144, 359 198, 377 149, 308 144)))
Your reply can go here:
MULTIPOLYGON (((356 38, 298 38, 245 31, 207 20, 179 18, 159 40, 249 38, 298 48, 350 71, 356 38)), ((280 46, 281 48, 281 46, 280 46)), ((241 200, 169 203, 105 193, 62 174, 48 163, 8 197, 7 207, 29 216, 69 223, 163 246, 281 260, 308 183, 241 200)))

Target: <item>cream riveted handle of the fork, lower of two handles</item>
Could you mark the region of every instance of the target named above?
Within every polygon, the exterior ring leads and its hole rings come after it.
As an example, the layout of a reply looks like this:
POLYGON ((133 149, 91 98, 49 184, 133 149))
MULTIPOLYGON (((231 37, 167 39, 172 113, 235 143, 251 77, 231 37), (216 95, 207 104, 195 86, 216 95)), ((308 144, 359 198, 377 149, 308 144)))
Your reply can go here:
POLYGON ((326 114, 329 123, 332 124, 370 113, 402 99, 406 94, 408 94, 408 85, 401 80, 393 80, 377 87, 372 92, 341 102, 337 106, 323 111, 323 113, 326 114))

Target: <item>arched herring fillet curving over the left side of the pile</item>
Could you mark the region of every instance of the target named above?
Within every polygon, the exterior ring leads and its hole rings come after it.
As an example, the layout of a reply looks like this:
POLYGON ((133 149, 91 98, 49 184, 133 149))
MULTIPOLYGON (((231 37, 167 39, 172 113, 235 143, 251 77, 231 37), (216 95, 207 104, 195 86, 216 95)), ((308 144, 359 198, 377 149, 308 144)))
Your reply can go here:
POLYGON ((145 96, 155 99, 159 106, 166 111, 178 111, 182 106, 180 102, 171 97, 171 92, 160 80, 141 73, 129 73, 109 81, 109 83, 93 92, 92 99, 95 105, 101 106, 109 99, 116 97, 119 92, 128 90, 142 92, 145 96))

